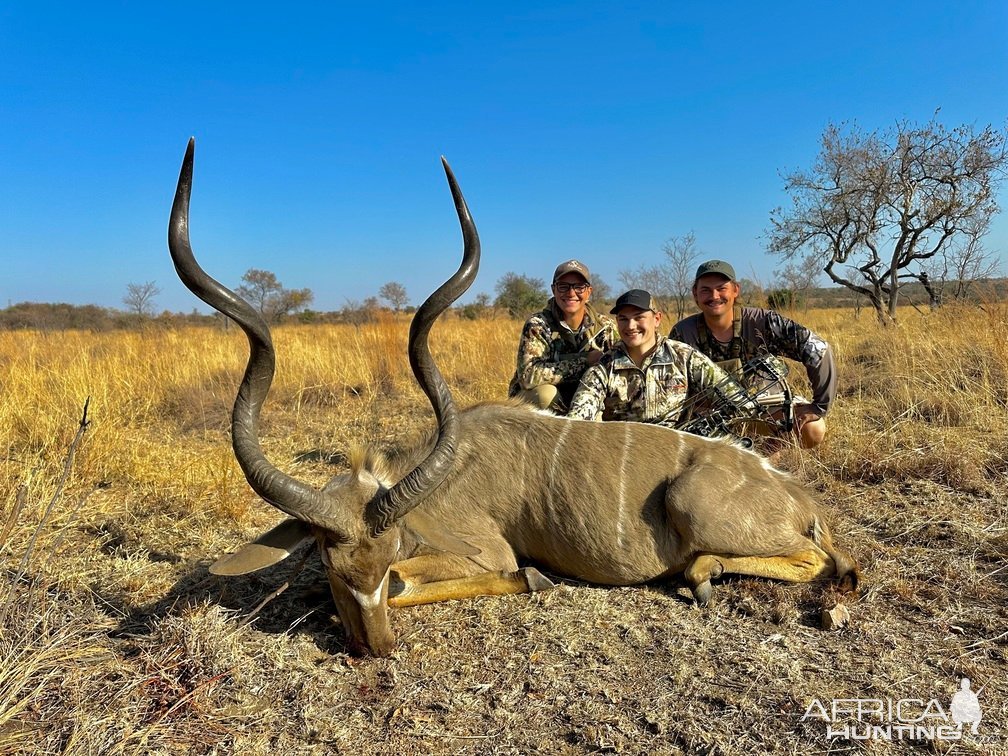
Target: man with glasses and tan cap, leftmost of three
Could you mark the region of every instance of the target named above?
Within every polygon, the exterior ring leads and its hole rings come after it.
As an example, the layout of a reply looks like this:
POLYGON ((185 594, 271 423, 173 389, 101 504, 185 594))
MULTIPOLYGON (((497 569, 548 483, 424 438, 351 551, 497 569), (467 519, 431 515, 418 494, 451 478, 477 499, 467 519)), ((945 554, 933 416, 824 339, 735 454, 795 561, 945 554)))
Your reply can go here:
POLYGON ((581 376, 619 340, 611 318, 599 314, 592 298, 592 274, 585 263, 568 260, 553 272, 553 295, 525 323, 517 368, 508 396, 562 414, 581 376))

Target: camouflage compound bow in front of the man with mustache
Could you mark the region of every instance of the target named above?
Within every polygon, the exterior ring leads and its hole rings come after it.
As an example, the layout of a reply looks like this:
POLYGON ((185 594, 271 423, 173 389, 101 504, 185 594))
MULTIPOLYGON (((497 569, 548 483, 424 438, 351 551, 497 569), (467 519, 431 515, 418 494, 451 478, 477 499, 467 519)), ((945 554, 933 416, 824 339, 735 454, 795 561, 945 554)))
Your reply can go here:
POLYGON ((788 368, 772 355, 760 355, 726 370, 726 377, 685 403, 687 419, 677 430, 708 438, 728 436, 749 449, 752 435, 780 435, 794 427, 788 368))

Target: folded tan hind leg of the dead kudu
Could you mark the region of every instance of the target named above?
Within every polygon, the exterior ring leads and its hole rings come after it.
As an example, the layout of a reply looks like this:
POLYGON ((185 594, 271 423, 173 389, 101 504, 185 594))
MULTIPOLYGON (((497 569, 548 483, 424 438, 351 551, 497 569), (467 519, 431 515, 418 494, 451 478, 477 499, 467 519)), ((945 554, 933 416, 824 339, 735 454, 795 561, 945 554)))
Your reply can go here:
POLYGON ((821 548, 812 546, 782 556, 721 556, 701 554, 685 570, 685 579, 701 606, 711 600, 711 581, 726 573, 772 578, 788 583, 809 583, 829 578, 837 572, 833 559, 821 548))

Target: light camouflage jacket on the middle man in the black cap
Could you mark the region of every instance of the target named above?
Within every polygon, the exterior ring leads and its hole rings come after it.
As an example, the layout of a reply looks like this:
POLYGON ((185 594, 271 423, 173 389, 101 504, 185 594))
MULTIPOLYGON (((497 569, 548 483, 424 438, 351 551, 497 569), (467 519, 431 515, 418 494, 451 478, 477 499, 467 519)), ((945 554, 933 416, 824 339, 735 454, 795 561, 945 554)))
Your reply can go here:
MULTIPOLYGON (((694 401, 706 397, 716 405, 752 401, 724 370, 685 344, 660 339, 642 367, 621 343, 581 379, 569 417, 585 420, 637 420, 676 427, 689 418, 694 401)), ((731 412, 730 412, 731 413, 731 412)))

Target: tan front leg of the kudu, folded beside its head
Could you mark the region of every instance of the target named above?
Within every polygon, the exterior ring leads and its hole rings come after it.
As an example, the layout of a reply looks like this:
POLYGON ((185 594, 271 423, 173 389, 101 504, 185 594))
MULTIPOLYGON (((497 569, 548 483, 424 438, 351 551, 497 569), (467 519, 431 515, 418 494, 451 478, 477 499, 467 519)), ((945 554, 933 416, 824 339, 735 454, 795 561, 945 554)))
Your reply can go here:
POLYGON ((550 588, 553 583, 534 568, 486 572, 471 561, 451 555, 414 556, 392 566, 388 605, 411 607, 550 588), (463 577, 457 577, 460 575, 463 577))

